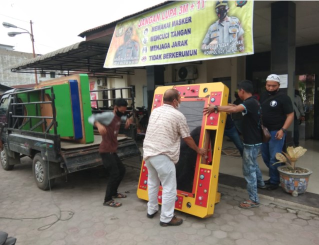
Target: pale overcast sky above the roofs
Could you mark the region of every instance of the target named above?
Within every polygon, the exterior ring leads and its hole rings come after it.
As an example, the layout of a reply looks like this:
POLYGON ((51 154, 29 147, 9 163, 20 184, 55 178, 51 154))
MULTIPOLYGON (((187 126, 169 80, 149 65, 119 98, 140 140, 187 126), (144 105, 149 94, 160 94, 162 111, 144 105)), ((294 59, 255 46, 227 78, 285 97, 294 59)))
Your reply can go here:
POLYGON ((8 22, 31 32, 34 51, 45 54, 85 38, 79 33, 118 20, 164 0, 0 0, 0 44, 14 46, 15 51, 32 53, 28 33, 9 37, 7 32, 24 30, 6 28, 8 22))

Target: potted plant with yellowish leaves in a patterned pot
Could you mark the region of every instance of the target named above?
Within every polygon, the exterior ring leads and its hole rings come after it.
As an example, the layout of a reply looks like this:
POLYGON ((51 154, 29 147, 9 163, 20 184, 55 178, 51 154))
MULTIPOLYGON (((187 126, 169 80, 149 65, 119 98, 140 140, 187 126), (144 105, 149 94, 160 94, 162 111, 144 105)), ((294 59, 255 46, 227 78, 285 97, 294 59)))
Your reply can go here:
POLYGON ((305 192, 308 186, 309 176, 312 173, 310 169, 304 167, 296 167, 295 162, 302 156, 307 149, 302 146, 287 147, 287 152, 282 152, 283 154, 277 152, 276 159, 279 160, 276 163, 284 162, 285 165, 279 166, 277 169, 280 176, 280 185, 292 196, 298 196, 305 192))

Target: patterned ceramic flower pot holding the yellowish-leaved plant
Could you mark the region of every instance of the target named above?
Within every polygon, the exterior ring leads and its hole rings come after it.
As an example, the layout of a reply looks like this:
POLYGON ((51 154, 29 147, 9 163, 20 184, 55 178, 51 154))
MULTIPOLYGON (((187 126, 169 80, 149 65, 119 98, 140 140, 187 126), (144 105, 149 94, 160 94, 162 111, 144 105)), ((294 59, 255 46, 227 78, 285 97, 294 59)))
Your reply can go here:
POLYGON ((305 192, 308 186, 309 176, 312 171, 310 169, 302 167, 302 169, 306 169, 307 172, 291 173, 283 170, 282 168, 286 168, 286 166, 278 166, 277 168, 279 171, 281 187, 286 192, 291 193, 293 196, 297 196, 298 194, 305 192))

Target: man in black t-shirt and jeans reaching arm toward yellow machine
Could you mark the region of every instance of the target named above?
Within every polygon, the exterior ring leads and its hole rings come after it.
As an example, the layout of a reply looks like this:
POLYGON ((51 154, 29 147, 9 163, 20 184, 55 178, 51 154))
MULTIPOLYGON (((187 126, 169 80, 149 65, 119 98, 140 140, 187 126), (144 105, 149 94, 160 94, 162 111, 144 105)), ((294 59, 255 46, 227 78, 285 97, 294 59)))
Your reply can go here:
POLYGON ((238 95, 243 100, 239 105, 217 106, 208 104, 203 109, 204 114, 213 111, 239 112, 242 111, 242 137, 243 137, 243 154, 242 154, 242 173, 247 182, 247 191, 249 199, 241 202, 239 207, 250 208, 259 206, 258 188, 265 188, 261 171, 258 166, 257 156, 261 145, 260 131, 260 104, 252 96, 253 86, 249 80, 243 80, 238 85, 238 95))

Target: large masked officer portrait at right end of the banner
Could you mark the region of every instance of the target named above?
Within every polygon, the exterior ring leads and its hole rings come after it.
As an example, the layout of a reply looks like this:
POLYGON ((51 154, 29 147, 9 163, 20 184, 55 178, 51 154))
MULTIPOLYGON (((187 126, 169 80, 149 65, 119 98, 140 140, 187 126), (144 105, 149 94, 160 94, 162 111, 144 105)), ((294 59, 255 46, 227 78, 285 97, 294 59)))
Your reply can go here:
POLYGON ((218 20, 211 24, 202 40, 205 55, 225 55, 244 50, 243 29, 237 17, 228 16, 228 1, 216 1, 218 20))

